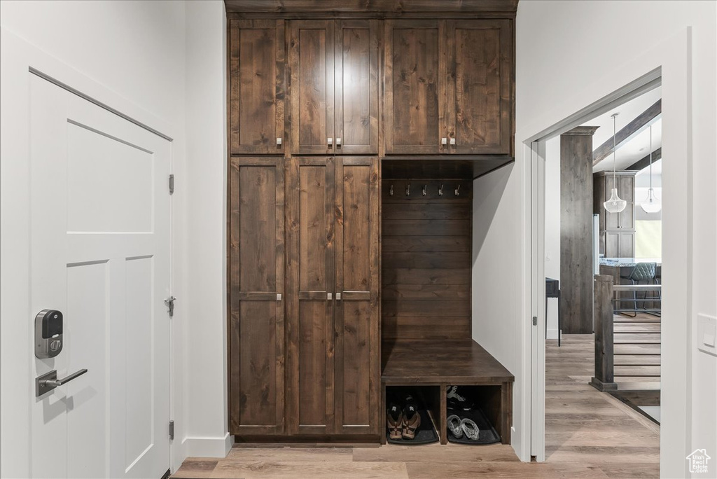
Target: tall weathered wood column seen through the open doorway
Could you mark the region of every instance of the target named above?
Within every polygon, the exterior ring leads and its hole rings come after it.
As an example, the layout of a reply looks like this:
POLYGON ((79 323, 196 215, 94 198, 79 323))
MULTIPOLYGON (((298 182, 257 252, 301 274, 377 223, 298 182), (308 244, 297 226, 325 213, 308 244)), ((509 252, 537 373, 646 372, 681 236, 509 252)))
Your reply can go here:
POLYGON ((592 136, 579 126, 560 136, 560 308, 566 334, 592 324, 592 136))

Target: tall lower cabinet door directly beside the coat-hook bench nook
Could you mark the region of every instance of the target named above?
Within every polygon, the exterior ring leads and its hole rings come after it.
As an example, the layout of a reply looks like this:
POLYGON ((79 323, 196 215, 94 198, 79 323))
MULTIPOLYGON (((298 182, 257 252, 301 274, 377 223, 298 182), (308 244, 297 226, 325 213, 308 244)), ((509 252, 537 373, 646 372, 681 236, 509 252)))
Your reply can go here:
POLYGON ((376 434, 378 159, 336 159, 336 432, 376 434))

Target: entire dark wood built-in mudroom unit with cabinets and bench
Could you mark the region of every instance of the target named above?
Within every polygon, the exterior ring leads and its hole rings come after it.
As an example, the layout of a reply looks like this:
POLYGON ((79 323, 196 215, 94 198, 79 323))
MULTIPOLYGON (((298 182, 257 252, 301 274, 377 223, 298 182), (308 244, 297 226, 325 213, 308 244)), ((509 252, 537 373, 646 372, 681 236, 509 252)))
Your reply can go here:
POLYGON ((513 161, 517 1, 225 4, 229 433, 445 444, 465 417, 510 442, 470 283, 473 179, 513 161))

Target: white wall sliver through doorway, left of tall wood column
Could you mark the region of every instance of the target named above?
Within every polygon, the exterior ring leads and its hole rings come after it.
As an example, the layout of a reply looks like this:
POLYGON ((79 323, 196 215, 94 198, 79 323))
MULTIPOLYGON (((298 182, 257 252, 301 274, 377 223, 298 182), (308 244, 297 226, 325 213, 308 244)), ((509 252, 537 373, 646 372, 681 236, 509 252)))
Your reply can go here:
MULTIPOLYGON (((560 137, 545 142, 545 276, 560 280, 560 137)), ((548 338, 558 338, 558 300, 548 300, 548 338)))

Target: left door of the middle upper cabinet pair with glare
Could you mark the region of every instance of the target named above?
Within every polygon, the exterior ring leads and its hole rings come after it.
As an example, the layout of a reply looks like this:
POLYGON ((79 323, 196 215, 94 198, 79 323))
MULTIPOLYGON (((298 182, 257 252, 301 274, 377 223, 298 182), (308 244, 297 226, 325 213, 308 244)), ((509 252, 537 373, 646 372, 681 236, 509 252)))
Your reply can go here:
POLYGON ((291 152, 333 153, 333 20, 290 22, 291 152))

